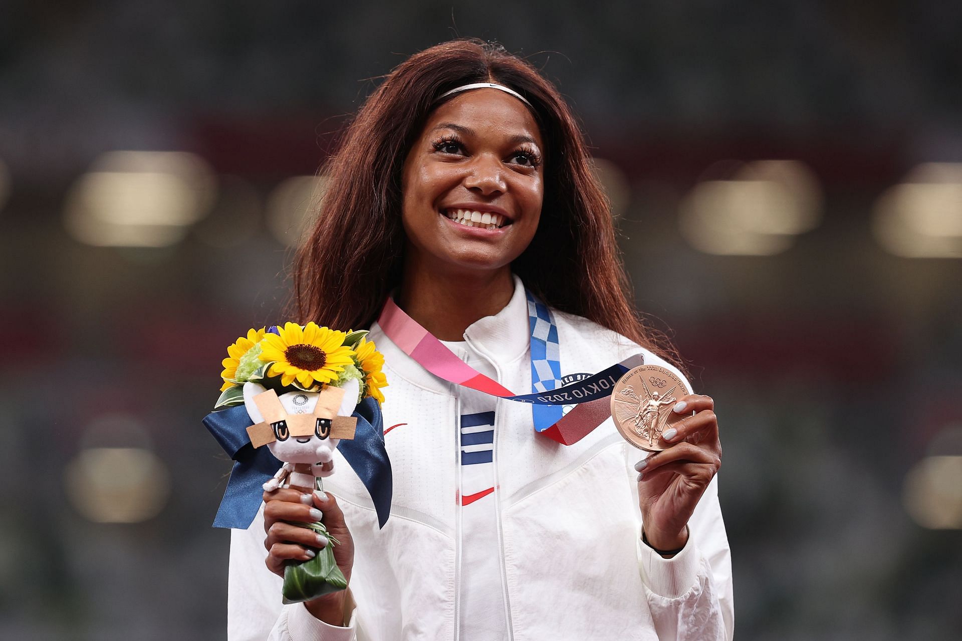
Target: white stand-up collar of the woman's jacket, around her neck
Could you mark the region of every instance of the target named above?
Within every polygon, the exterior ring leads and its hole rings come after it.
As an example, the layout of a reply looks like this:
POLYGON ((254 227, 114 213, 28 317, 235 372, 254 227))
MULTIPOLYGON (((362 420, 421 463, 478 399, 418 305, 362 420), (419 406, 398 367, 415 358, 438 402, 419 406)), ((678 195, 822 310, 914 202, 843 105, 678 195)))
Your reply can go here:
MULTIPOLYGON (((527 351, 531 331, 528 322, 528 302, 524 284, 513 275, 515 293, 508 304, 494 316, 472 322, 465 330, 465 340, 481 356, 504 365, 517 360, 527 351)), ((386 367, 404 376, 419 387, 449 394, 453 384, 422 368, 417 361, 394 345, 376 322, 370 327, 371 339, 385 356, 386 367)))

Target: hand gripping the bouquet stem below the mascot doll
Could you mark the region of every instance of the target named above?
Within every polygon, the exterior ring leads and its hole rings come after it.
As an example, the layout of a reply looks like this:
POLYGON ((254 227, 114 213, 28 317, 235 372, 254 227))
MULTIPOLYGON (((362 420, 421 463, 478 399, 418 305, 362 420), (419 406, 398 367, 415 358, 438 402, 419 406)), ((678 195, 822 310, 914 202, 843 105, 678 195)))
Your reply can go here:
MULTIPOLYGON (((281 488, 264 493, 264 528, 267 537, 267 569, 284 577, 288 561, 306 561, 314 558, 315 550, 327 545, 323 535, 308 527, 291 526, 291 523, 315 523, 322 521, 331 536, 341 542, 334 546, 334 560, 348 584, 354 567, 354 540, 344 523, 344 514, 333 495, 317 490, 313 493, 293 488, 281 488), (291 523, 288 523, 291 522, 291 523)), ((334 626, 342 625, 344 593, 346 590, 324 595, 305 603, 316 618, 334 626)))

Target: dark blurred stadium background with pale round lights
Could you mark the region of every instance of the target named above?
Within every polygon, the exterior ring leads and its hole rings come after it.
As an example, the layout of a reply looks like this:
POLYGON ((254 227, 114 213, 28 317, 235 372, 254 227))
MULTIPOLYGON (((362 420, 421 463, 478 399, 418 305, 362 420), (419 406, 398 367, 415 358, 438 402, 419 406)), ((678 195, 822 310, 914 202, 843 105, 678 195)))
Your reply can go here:
POLYGON ((219 361, 377 78, 478 37, 570 99, 717 399, 736 638, 962 638, 960 33, 935 0, 0 2, 0 637, 223 638, 219 361))

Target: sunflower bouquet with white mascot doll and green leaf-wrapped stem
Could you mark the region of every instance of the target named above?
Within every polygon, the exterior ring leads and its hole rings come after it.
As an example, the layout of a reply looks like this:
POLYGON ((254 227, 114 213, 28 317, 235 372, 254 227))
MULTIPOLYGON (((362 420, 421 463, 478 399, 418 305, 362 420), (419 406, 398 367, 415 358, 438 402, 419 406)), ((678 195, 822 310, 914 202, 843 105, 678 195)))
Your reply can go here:
MULTIPOLYGON (((224 430, 218 429, 218 425, 223 424, 227 431, 233 428, 234 435, 243 429, 254 449, 267 446, 270 454, 260 459, 266 460, 260 472, 270 474, 271 467, 280 469, 263 483, 266 491, 276 489, 285 480, 289 486, 306 491, 322 489, 320 477, 334 471, 334 449, 342 439, 355 438, 357 417, 365 419, 362 410, 367 408, 367 416, 376 415, 378 419, 374 423, 379 423, 379 406, 384 400, 381 388, 388 383, 381 372, 384 356, 367 341, 367 331, 342 332, 315 322, 303 327, 287 322, 283 327, 250 329, 246 336, 227 348, 227 358, 222 365, 220 397, 215 413, 205 424, 215 437, 218 432, 223 433, 224 430), (361 414, 355 413, 356 407, 361 414), (233 424, 212 419, 228 414, 233 414, 233 424), (241 424, 245 426, 240 427, 241 424)), ((366 424, 365 433, 370 441, 369 435, 374 434, 376 438, 379 432, 371 428, 370 423, 366 424)), ((359 436, 365 438, 364 433, 359 436)), ((383 449, 383 433, 380 438, 383 449)), ((219 437, 218 440, 221 445, 237 441, 219 437)), ((376 443, 374 450, 378 450, 376 443)), ((237 450, 240 451, 242 448, 237 450)), ((240 464, 237 452, 232 458, 240 464)), ((386 454, 383 460, 387 462, 386 454)), ((348 462, 355 467, 354 460, 348 458, 348 462)), ((390 476, 390 462, 387 465, 390 476)), ((387 482, 390 484, 390 477, 387 482)), ((248 490, 255 487, 248 484, 248 490)), ((390 486, 388 492, 390 506, 390 486)), ((231 494, 229 484, 225 500, 231 494)), ((219 515, 220 512, 218 518, 219 515)), ((218 525, 216 521, 215 525, 218 525)), ((335 562, 333 550, 340 542, 322 522, 291 525, 313 529, 326 536, 329 543, 316 551, 313 558, 291 561, 285 568, 284 603, 308 601, 344 589, 347 581, 335 562)))

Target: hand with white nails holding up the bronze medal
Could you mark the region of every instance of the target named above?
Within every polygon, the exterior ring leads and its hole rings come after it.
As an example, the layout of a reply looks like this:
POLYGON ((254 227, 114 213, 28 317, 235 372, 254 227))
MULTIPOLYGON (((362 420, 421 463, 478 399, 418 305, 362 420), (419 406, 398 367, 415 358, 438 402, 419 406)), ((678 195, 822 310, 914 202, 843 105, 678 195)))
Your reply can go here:
POLYGON ((662 437, 676 445, 639 461, 639 506, 648 544, 678 550, 688 541, 688 520, 708 483, 722 467, 722 443, 711 397, 682 397, 671 411, 691 414, 666 429, 662 437), (682 403, 684 405, 682 406, 682 403), (672 430, 674 433, 672 434, 672 430))

